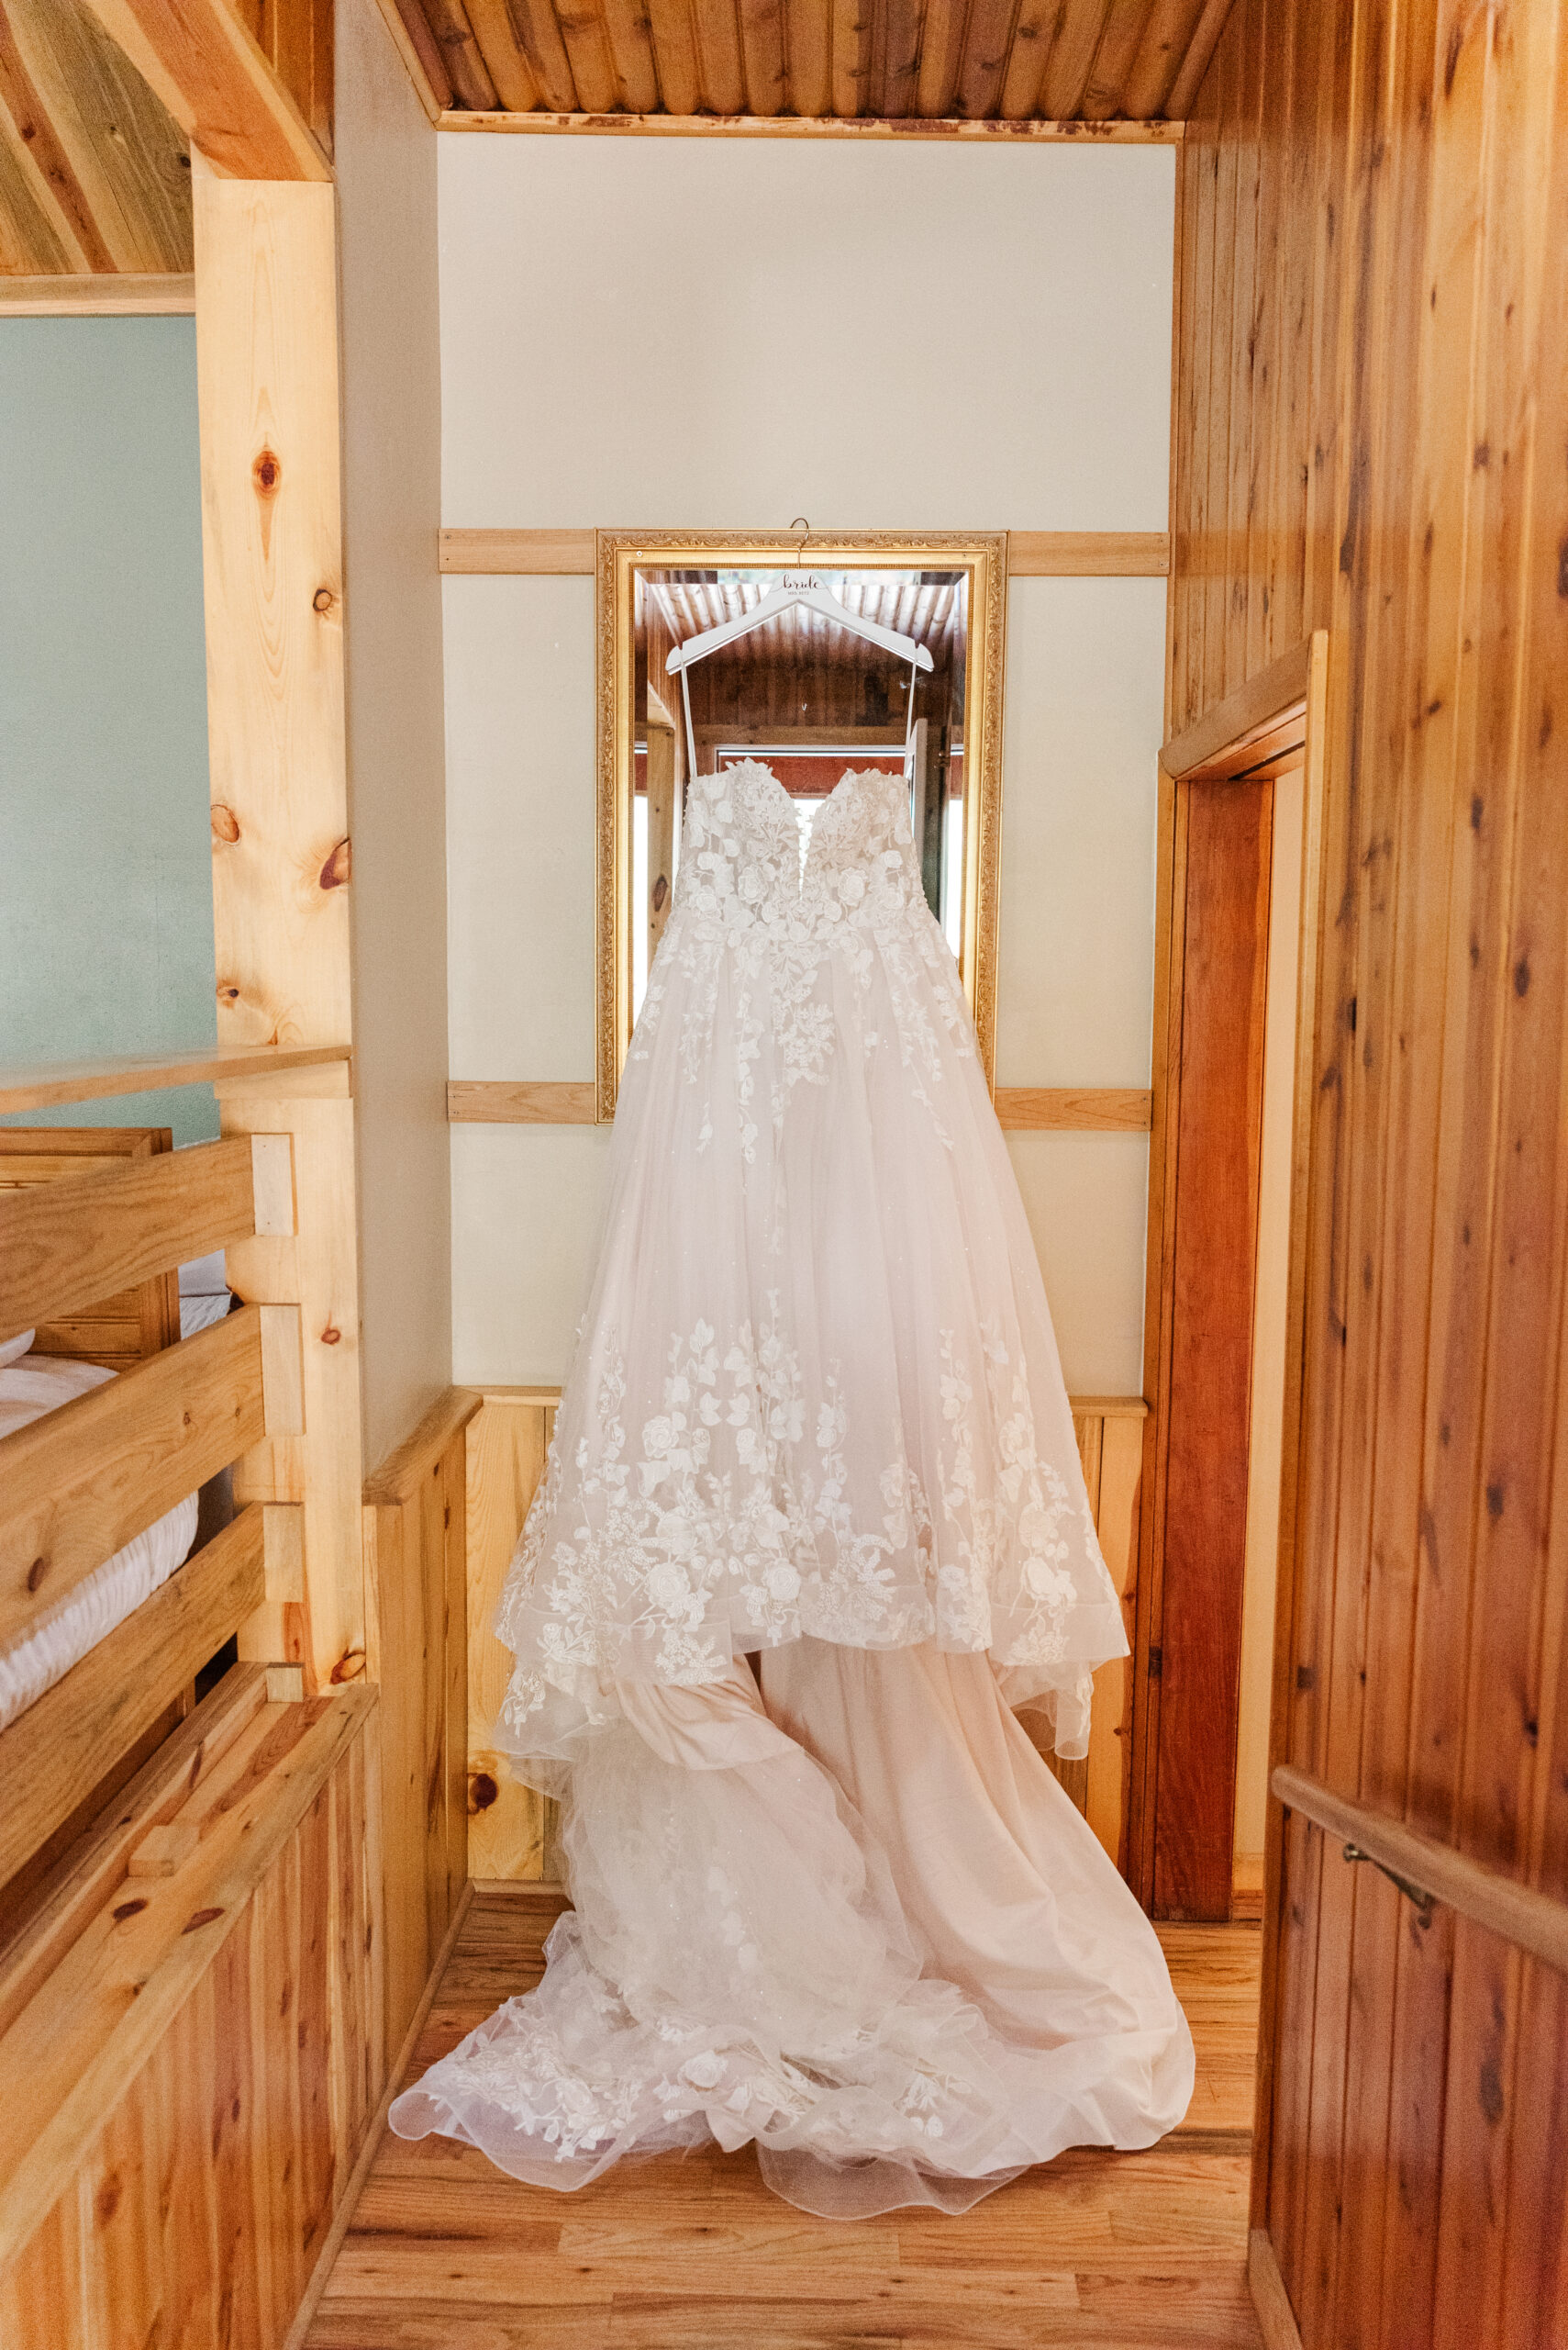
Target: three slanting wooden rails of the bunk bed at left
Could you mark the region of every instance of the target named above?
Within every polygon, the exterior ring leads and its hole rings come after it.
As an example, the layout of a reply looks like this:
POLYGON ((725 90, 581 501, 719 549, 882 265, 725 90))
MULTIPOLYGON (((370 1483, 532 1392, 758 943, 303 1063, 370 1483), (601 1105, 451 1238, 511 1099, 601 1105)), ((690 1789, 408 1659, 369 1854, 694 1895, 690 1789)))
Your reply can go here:
MULTIPOLYGON (((289 1135, 0 1191, 0 1340, 256 1234, 293 1234, 289 1135)), ((265 1436, 300 1429, 298 1307, 249 1304, 0 1438, 0 1643, 265 1436)), ((244 1509, 0 1732, 0 1885, 261 1607, 284 1518, 244 1509)))

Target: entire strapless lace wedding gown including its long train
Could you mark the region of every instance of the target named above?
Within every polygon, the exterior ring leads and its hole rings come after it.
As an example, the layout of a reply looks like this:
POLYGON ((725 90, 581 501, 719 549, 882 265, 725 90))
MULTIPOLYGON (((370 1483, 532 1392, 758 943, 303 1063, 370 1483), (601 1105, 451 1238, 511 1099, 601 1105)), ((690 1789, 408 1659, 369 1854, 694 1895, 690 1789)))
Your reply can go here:
POLYGON ((810 2211, 958 2211, 1190 2099, 1160 1943, 1009 1711, 1082 1755, 1127 1638, 904 787, 845 776, 800 860, 746 761, 681 848, 498 1612, 575 1908, 392 2129, 554 2188, 756 2141, 810 2211))

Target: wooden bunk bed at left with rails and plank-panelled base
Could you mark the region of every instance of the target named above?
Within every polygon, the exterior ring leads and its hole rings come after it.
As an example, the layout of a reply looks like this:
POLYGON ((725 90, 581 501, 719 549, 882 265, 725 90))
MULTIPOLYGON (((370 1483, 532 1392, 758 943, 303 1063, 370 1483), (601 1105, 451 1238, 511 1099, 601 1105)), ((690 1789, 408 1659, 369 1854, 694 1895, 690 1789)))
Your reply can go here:
MULTIPOLYGON (((2 1149, 0 1340, 94 1358, 106 1337, 122 1365, 0 1438, 12 1643, 216 1471, 298 1436, 303 1379, 298 1304, 178 1340, 174 1292, 214 1248, 298 1246, 289 1133, 2 1149)), ((376 1690, 242 1661, 185 1713, 293 1589, 298 1509, 239 1506, 0 1732, 5 2343, 223 2341, 239 2305, 279 2343, 376 2110, 376 1690)))

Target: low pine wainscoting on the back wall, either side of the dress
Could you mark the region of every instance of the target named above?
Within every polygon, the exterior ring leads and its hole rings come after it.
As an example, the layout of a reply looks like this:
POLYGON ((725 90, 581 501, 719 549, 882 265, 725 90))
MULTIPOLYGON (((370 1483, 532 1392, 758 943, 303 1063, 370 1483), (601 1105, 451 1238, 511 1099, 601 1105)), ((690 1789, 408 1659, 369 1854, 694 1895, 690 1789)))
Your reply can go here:
MULTIPOLYGON (((484 1389, 467 1424, 467 1852, 477 1885, 505 1878, 554 1880, 554 1805, 519 1786, 495 1746, 495 1716, 512 1678, 512 1652, 491 1631, 512 1551, 545 1476, 556 1419, 554 1386, 484 1389)), ((1138 1563, 1138 1480, 1143 1473, 1138 1396, 1073 1403, 1077 1452, 1110 1579, 1131 1638, 1138 1563)), ((1033 1716, 1023 1718, 1026 1725, 1033 1716)), ((1094 1720, 1082 1762, 1052 1770, 1106 1852, 1124 1864, 1131 1739, 1131 1659, 1094 1676, 1094 1720)))

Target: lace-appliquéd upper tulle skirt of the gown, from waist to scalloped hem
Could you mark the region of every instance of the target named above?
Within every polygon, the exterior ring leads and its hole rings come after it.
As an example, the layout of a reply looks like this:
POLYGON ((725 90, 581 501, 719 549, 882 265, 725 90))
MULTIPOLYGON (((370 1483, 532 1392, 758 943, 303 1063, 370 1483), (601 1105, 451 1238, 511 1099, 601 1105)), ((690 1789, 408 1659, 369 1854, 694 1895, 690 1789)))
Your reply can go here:
POLYGON ((676 905, 599 1271, 502 1596, 500 1741, 803 1633, 991 1657, 1063 1755, 1127 1652, 958 968, 930 909, 800 968, 676 905))

